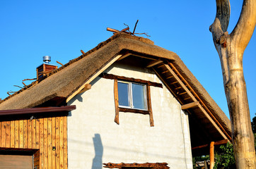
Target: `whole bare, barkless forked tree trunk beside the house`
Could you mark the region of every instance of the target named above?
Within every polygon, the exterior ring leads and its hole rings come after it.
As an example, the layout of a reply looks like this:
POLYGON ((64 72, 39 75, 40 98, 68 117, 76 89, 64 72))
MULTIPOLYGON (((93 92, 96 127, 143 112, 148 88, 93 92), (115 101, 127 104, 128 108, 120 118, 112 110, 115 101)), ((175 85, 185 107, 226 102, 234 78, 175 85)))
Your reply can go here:
POLYGON ((231 116, 232 138, 237 168, 256 168, 255 145, 243 76, 243 52, 256 23, 256 0, 244 0, 237 25, 228 35, 229 0, 216 0, 216 18, 210 27, 218 51, 223 84, 231 116))

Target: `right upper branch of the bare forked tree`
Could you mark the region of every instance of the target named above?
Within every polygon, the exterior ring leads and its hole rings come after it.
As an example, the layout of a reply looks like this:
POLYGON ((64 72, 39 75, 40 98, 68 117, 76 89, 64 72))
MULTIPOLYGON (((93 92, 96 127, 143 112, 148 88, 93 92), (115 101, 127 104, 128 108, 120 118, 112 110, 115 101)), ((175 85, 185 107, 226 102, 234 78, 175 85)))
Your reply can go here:
POLYGON ((231 32, 231 40, 235 48, 243 53, 250 42, 256 24, 256 1, 244 0, 238 23, 231 32))

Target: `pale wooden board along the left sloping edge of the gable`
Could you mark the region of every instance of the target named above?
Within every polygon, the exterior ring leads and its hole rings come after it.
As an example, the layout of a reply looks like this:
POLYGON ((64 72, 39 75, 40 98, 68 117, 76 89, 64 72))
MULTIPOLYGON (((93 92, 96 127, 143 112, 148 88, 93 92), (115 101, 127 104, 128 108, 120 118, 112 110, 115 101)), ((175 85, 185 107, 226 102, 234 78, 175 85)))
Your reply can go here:
POLYGON ((86 82, 84 82, 81 87, 79 87, 78 89, 76 89, 71 95, 69 95, 66 98, 66 103, 69 102, 74 96, 76 96, 76 94, 79 94, 79 92, 81 92, 82 89, 84 89, 84 87, 86 87, 86 84, 89 84, 90 82, 92 82, 96 77, 98 77, 98 75, 100 75, 100 73, 103 73, 103 71, 105 71, 108 67, 110 67, 110 65, 112 65, 112 63, 114 63, 115 61, 117 61, 119 58, 121 58, 123 55, 117 55, 114 58, 112 58, 109 62, 107 62, 105 65, 103 65, 103 68, 101 68, 100 70, 98 70, 98 72, 95 72, 94 75, 91 76, 91 78, 89 78, 86 82))

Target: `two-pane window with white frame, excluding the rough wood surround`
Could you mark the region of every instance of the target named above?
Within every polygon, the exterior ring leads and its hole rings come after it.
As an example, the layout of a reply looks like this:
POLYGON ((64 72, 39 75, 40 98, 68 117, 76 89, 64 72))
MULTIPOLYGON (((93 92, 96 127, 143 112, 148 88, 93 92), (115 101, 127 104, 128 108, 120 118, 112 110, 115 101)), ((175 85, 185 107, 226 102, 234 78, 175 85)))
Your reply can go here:
POLYGON ((147 110, 146 84, 118 82, 119 106, 147 110))

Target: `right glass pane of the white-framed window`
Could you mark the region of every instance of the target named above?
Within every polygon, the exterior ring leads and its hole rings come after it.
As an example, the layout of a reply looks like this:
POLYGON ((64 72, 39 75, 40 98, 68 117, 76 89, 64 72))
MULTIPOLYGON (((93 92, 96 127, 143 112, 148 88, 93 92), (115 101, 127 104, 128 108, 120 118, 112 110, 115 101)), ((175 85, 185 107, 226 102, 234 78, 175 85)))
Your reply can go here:
POLYGON ((145 85, 132 83, 132 104, 134 108, 146 109, 145 85))

